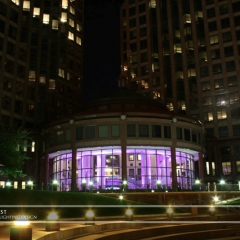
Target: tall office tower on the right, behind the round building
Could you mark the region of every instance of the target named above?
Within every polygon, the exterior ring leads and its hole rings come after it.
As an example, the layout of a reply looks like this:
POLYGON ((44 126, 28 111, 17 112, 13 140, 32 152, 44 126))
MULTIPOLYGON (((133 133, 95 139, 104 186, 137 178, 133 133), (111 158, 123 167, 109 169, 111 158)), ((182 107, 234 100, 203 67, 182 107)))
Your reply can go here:
POLYGON ((126 0, 121 72, 128 87, 203 122, 206 181, 240 174, 240 1, 126 0))

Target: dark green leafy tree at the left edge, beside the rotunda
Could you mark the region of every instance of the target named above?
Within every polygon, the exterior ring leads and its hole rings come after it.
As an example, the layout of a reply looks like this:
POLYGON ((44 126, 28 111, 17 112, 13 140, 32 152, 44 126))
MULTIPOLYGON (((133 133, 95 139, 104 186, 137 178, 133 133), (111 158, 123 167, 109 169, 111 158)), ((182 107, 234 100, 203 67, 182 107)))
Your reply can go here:
POLYGON ((5 177, 24 177, 22 168, 27 159, 24 148, 29 146, 30 132, 25 129, 7 128, 0 125, 0 175, 5 177))

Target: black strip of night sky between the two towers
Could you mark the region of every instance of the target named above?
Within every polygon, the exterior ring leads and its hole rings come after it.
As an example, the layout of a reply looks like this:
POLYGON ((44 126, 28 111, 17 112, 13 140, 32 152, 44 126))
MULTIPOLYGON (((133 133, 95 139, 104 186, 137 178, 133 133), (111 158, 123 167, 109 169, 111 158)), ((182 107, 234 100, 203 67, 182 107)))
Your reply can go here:
POLYGON ((120 0, 85 1, 84 101, 117 87, 120 75, 120 0))

